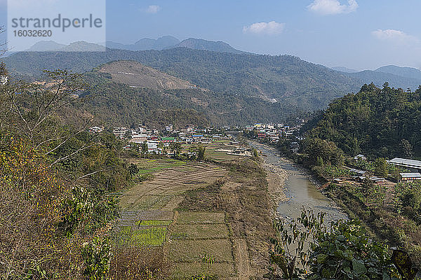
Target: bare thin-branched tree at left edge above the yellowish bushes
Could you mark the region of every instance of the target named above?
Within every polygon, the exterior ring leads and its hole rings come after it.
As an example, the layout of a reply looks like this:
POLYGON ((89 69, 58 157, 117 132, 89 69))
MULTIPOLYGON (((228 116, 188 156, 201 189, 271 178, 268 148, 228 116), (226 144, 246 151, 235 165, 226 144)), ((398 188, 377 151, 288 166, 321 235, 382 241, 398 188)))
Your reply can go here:
MULTIPOLYGON (((80 127, 72 130, 60 126, 58 116, 70 104, 77 102, 86 84, 78 73, 66 70, 44 72, 47 78, 43 82, 26 83, 18 80, 3 88, 1 99, 8 108, 1 116, 5 118, 1 126, 27 139, 35 148, 44 147, 48 155, 86 131, 92 118, 83 120, 80 127)), ((91 148, 95 145, 93 138, 76 151, 56 159, 51 166, 91 148)))

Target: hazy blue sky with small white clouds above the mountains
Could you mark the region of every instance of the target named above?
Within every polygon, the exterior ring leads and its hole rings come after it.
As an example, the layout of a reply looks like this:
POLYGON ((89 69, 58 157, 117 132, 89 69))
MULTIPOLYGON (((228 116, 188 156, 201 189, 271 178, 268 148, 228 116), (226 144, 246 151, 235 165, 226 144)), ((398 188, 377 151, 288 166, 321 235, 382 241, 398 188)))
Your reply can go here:
MULTIPOLYGON (((172 35, 326 66, 420 68, 420 10, 420 0, 108 0, 107 40, 172 35)), ((5 25, 6 0, 0 15, 5 25)))

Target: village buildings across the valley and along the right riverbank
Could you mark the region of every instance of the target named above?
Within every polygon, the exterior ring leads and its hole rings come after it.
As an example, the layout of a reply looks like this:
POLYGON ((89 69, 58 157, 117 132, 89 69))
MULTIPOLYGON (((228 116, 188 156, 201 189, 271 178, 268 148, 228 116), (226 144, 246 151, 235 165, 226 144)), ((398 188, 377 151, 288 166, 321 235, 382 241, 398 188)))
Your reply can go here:
MULTIPOLYGON (((258 141, 276 145, 281 139, 288 139, 289 148, 292 153, 298 153, 300 141, 304 138, 300 136, 300 129, 305 125, 305 120, 296 118, 288 124, 263 124, 255 123, 243 127, 229 125, 223 127, 196 127, 194 125, 186 125, 185 127, 175 127, 175 125, 166 125, 163 130, 150 129, 144 125, 137 128, 114 127, 112 133, 118 139, 128 140, 125 147, 130 149, 133 145, 147 144, 147 153, 155 155, 172 156, 168 151, 171 144, 201 144, 206 146, 213 141, 229 141, 226 148, 220 151, 227 154, 252 156, 252 149, 247 146, 244 136, 257 139, 258 141)), ((102 132, 104 127, 90 127, 89 132, 102 132)), ((348 171, 349 176, 334 178, 335 183, 344 183, 353 181, 354 183, 363 183, 364 181, 372 181, 373 183, 387 186, 394 186, 398 182, 412 182, 421 180, 421 161, 405 158, 394 158, 387 160, 388 165, 392 165, 399 169, 400 172, 393 176, 375 176, 373 172, 367 169, 359 168, 361 165, 355 165, 357 162, 367 162, 365 155, 355 155, 344 168, 348 171)))

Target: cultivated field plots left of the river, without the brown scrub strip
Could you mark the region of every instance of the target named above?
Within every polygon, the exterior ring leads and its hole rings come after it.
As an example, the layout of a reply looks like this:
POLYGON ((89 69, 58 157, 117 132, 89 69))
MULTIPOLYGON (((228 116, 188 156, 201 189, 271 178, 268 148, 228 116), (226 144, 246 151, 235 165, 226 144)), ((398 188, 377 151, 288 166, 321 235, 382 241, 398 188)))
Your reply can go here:
MULTIPOLYGON (((227 141, 209 144, 206 158, 215 162, 238 159, 224 152, 230 148, 227 141)), ((248 279, 248 245, 246 239, 234 238, 227 212, 211 205, 208 209, 180 207, 192 193, 227 181, 229 170, 224 165, 170 158, 131 162, 140 169, 138 175, 148 174, 149 179, 121 194, 116 245, 163 248, 172 263, 173 279, 198 275, 248 279)))

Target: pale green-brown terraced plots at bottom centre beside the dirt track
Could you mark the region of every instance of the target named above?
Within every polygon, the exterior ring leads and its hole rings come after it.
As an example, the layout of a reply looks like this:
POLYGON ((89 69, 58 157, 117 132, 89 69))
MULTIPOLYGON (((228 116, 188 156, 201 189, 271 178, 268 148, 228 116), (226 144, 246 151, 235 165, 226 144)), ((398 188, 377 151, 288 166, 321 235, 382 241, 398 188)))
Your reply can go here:
POLYGON ((182 211, 176 217, 168 239, 168 257, 175 264, 174 274, 236 276, 224 213, 182 211))

